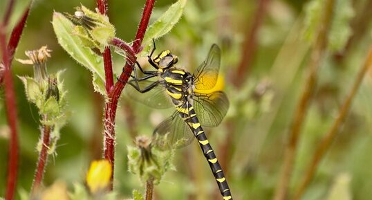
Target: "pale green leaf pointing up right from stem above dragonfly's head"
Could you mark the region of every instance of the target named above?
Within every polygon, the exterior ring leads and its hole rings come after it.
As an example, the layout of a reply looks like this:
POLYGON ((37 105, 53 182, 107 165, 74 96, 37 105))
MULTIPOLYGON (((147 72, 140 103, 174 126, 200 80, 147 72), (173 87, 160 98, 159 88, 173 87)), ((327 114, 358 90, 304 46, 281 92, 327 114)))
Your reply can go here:
POLYGON ((149 26, 149 28, 147 28, 142 42, 145 48, 141 52, 141 55, 147 55, 149 53, 152 39, 162 37, 163 35, 167 34, 171 28, 174 27, 174 25, 176 25, 183 14, 186 3, 187 0, 178 0, 176 3, 171 5, 168 10, 159 17, 159 19, 157 19, 149 26))

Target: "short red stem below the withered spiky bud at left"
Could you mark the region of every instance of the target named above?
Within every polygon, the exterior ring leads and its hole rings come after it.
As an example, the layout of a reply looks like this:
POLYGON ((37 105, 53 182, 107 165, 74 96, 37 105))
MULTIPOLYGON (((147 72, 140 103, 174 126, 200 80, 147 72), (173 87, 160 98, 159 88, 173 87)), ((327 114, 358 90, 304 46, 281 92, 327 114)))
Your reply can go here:
POLYGON ((43 144, 41 146, 41 151, 39 154, 39 160, 37 161, 37 168, 35 172, 35 178, 32 183, 31 197, 37 194, 41 181, 43 181, 45 167, 48 161, 48 149, 50 145, 50 126, 44 126, 42 140, 43 144))

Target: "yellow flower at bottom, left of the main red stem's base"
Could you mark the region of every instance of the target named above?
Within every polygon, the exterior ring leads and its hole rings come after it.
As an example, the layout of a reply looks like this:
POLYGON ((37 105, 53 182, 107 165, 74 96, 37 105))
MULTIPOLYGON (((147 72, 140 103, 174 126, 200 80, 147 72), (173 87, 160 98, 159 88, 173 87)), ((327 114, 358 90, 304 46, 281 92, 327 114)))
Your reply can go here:
POLYGON ((93 161, 86 174, 86 184, 91 192, 97 193, 106 190, 110 184, 112 170, 111 163, 106 160, 93 161))

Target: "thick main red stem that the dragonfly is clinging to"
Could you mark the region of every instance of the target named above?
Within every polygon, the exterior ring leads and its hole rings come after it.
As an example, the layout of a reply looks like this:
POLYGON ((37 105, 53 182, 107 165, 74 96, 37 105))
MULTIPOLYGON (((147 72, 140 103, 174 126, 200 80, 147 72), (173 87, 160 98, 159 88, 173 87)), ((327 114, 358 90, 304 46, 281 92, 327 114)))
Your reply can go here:
MULTIPOLYGON (((151 12, 154 8, 155 0, 147 0, 145 9, 142 12, 140 25, 138 26, 136 38, 133 42, 132 49, 134 53, 140 52, 142 39, 145 35, 151 12)), ((127 62, 120 74, 118 82, 115 83, 113 89, 109 93, 109 102, 105 107, 105 120, 104 120, 104 158, 111 163, 112 172, 114 172, 114 158, 115 158, 115 116, 118 109, 118 100, 120 94, 127 84, 129 77, 133 71, 133 65, 136 63, 136 55, 128 54, 127 62)), ((111 190, 113 189, 113 174, 111 175, 111 190)))

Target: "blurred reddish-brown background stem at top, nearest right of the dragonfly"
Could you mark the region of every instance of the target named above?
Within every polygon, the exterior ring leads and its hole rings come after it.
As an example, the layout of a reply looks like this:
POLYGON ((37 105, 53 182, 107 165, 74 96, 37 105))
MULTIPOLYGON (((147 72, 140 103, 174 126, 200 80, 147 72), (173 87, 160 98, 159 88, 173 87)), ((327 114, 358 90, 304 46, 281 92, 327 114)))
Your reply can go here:
POLYGON ((235 78, 233 84, 236 87, 240 87, 244 82, 245 75, 250 72, 252 68, 252 59, 254 52, 257 48, 257 33, 261 27, 262 20, 266 15, 266 8, 268 7, 268 2, 270 0, 260 0, 259 6, 257 8, 256 14, 254 15, 252 28, 245 35, 245 42, 243 46, 243 53, 241 55, 241 62, 239 63, 238 70, 235 73, 235 78))

